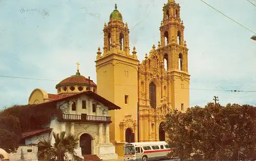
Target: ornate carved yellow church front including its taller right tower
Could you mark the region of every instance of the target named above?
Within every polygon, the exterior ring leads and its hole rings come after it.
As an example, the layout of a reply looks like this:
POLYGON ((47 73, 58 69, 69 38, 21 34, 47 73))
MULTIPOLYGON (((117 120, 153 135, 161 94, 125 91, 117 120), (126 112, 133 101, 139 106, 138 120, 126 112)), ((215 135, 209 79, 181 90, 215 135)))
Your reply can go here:
POLYGON ((183 35, 180 6, 169 1, 163 7, 161 42, 157 49, 153 45, 139 64, 139 122, 150 125, 140 127, 140 133, 144 134, 140 141, 161 140, 159 125, 165 120, 165 114, 175 108, 184 111, 189 105, 188 49, 183 35))

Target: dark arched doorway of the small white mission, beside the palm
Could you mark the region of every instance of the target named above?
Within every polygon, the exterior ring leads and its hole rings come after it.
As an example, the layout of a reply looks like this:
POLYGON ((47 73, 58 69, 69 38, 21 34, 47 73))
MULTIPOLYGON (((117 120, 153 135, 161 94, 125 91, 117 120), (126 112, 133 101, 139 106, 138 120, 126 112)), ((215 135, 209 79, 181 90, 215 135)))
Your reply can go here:
POLYGON ((92 137, 88 133, 80 136, 79 145, 81 147, 82 155, 92 154, 92 137))

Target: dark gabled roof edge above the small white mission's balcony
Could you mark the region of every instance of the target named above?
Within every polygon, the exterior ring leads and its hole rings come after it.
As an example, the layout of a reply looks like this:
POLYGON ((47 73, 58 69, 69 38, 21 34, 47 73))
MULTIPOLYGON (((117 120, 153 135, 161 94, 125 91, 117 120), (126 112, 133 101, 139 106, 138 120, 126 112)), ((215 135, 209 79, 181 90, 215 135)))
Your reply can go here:
MULTIPOLYGON (((82 94, 93 98, 94 100, 102 103, 105 106, 108 106, 109 110, 121 109, 121 107, 119 107, 116 104, 110 102, 109 100, 99 96, 98 94, 94 93, 91 90, 82 91, 82 92, 77 93, 77 94, 69 94, 70 96, 66 96, 66 97, 63 97, 63 98, 56 99, 56 100, 51 100, 51 101, 48 101, 48 102, 45 102, 45 103, 35 104, 34 106, 45 106, 45 105, 48 105, 48 104, 51 104, 51 103, 56 103, 56 102, 59 102, 59 101, 63 101, 63 100, 66 100, 66 99, 77 97, 77 96, 82 95, 82 94)), ((50 94, 50 95, 52 95, 52 94, 50 94)))

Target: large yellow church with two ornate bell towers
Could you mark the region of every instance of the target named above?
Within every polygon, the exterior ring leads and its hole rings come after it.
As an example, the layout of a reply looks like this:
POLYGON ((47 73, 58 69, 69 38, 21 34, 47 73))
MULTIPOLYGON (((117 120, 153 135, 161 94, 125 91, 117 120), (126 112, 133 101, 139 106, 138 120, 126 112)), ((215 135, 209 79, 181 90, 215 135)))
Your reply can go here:
POLYGON ((189 107, 188 49, 179 4, 164 4, 161 40, 142 62, 135 47, 130 51, 129 27, 117 5, 103 32, 103 53, 98 48, 95 61, 97 94, 121 107, 109 112, 116 153, 123 155, 125 142, 165 141, 165 114, 189 107))

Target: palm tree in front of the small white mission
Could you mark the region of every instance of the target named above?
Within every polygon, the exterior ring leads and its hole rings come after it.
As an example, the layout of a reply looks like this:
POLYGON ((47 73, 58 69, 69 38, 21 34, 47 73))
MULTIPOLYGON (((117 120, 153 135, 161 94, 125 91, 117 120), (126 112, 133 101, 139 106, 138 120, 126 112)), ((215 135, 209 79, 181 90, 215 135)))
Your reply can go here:
POLYGON ((73 134, 65 136, 66 132, 53 132, 55 143, 51 145, 50 139, 42 139, 38 143, 38 157, 48 161, 64 161, 69 160, 68 154, 72 156, 72 160, 83 160, 76 155, 75 149, 78 147, 79 139, 73 134))

